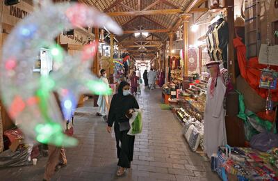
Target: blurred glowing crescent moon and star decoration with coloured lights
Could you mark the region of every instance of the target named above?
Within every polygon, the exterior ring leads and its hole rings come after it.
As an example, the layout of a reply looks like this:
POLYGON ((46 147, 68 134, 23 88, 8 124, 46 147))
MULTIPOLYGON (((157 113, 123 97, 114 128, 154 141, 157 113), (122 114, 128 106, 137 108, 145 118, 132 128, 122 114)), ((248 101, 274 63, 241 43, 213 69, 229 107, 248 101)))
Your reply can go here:
POLYGON ((81 54, 70 56, 54 38, 64 29, 80 26, 105 26, 116 34, 122 29, 104 13, 83 4, 49 1, 47 5, 35 8, 17 24, 3 46, 1 100, 27 140, 74 146, 77 140, 63 134, 63 116, 72 116, 81 93, 108 94, 111 90, 90 72, 97 42, 85 45, 81 54), (51 49, 55 71, 36 78, 33 65, 41 47, 51 49), (60 97, 63 116, 53 91, 60 97))

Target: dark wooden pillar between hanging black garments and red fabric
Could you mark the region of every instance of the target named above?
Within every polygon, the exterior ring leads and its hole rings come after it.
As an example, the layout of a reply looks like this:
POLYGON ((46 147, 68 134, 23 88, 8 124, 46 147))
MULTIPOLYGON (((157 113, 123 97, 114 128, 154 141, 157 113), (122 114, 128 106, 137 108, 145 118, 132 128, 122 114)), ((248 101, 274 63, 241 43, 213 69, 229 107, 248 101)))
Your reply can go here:
POLYGON ((228 70, 231 76, 231 81, 236 85, 236 70, 235 70, 235 56, 234 56, 234 0, 225 0, 227 6, 227 19, 229 24, 229 45, 228 45, 228 70))

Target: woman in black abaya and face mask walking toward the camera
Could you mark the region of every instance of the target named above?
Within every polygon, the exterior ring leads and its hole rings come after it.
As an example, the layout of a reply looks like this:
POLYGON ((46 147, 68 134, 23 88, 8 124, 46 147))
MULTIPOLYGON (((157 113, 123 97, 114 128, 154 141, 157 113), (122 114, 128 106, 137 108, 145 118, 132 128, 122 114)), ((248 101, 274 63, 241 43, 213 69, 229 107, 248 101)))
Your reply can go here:
POLYGON ((139 109, 138 102, 133 95, 129 93, 129 83, 122 81, 118 88, 118 93, 115 94, 111 101, 111 107, 108 114, 107 131, 111 133, 111 127, 114 124, 114 131, 117 143, 117 158, 120 166, 117 175, 121 176, 126 171, 126 168, 131 167, 133 159, 133 148, 135 136, 127 134, 129 128, 129 118, 131 118, 132 109, 139 109), (126 124, 124 124, 126 123, 126 124), (125 126, 124 126, 125 125, 125 126), (120 131, 121 129, 121 131, 120 131))

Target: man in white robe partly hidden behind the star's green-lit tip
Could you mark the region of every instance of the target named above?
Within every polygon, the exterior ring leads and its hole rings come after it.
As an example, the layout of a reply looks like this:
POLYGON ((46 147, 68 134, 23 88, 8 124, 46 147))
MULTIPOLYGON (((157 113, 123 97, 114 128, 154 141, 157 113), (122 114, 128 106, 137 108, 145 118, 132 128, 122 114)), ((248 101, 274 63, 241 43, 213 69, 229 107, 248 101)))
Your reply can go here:
MULTIPOLYGON (((107 74, 106 74, 106 70, 101 69, 100 70, 100 74, 101 74, 101 81, 104 81, 105 84, 109 84, 108 79, 107 79, 107 74)), ((99 106, 99 110, 97 112, 97 116, 106 116, 107 113, 107 104, 108 102, 108 95, 99 95, 99 99, 97 100, 97 105, 99 106)))

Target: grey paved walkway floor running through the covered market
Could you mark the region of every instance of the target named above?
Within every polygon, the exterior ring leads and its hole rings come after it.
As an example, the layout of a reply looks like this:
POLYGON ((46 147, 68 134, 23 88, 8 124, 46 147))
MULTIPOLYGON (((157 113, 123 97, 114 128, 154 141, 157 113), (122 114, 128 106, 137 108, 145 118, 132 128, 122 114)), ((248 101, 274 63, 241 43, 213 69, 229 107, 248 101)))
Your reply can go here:
MULTIPOLYGON (((117 178, 114 134, 95 116, 92 102, 78 110, 74 135, 79 146, 67 148, 68 165, 53 180, 219 180, 198 154, 191 152, 181 134, 181 125, 171 111, 160 109, 161 91, 145 91, 138 96, 144 109, 143 132, 136 136, 132 168, 117 178)), ((46 158, 37 166, 5 168, 0 180, 41 180, 46 158), (2 176, 3 175, 3 176, 2 176)))

